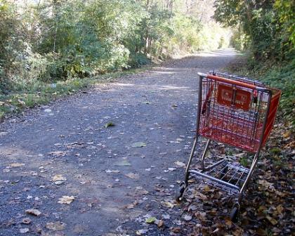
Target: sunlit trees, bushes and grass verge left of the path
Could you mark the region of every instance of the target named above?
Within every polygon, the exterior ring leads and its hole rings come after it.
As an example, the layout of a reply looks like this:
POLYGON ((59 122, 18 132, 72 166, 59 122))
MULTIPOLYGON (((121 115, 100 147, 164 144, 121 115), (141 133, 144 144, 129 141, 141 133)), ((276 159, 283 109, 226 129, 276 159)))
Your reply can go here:
POLYGON ((102 74, 227 47, 230 31, 211 18, 213 4, 0 0, 0 117, 77 91, 102 74))

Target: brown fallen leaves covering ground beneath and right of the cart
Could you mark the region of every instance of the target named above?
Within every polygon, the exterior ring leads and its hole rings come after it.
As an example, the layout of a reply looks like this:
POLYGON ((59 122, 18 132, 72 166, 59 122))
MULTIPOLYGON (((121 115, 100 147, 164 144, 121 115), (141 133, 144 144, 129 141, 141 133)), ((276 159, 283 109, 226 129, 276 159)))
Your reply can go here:
MULTIPOLYGON (((183 216, 188 221, 185 221, 186 226, 179 228, 179 232, 188 233, 183 230, 188 230, 188 225, 197 220, 199 223, 189 230, 192 235, 291 235, 295 228, 294 221, 291 220, 294 213, 291 186, 294 179, 295 147, 292 140, 294 132, 289 132, 288 126, 275 126, 261 152, 247 195, 242 199, 237 223, 230 221, 231 204, 228 197, 225 197, 226 194, 208 185, 194 181, 190 183, 181 208, 185 214, 190 213, 192 219, 183 216)), ((220 150, 230 150, 232 161, 248 157, 229 147, 214 146, 214 153, 220 150)), ((178 164, 176 166, 183 166, 178 164)))

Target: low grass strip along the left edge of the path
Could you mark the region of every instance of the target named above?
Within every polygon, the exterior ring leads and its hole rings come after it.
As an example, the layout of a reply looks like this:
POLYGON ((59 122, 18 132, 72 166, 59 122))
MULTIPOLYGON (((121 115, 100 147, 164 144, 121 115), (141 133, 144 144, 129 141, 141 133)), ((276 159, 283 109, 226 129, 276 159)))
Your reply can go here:
POLYGON ((112 72, 97 77, 52 81, 50 84, 42 81, 34 81, 34 83, 29 84, 18 84, 10 93, 0 93, 0 121, 2 121, 4 117, 18 114, 26 108, 45 105, 57 98, 87 89, 93 84, 105 83, 107 81, 110 82, 118 77, 135 74, 144 70, 147 70, 147 67, 126 70, 123 72, 112 72))

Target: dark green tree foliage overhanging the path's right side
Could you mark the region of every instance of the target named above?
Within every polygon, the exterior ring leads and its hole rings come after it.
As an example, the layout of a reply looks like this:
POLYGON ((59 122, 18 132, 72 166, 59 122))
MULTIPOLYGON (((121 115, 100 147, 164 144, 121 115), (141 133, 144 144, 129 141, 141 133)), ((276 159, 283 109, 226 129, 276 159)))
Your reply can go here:
POLYGON ((232 41, 238 47, 246 45, 255 60, 291 59, 295 34, 294 1, 218 0, 215 6, 214 18, 218 22, 242 29, 235 32, 232 41), (244 39, 247 41, 242 42, 244 39))

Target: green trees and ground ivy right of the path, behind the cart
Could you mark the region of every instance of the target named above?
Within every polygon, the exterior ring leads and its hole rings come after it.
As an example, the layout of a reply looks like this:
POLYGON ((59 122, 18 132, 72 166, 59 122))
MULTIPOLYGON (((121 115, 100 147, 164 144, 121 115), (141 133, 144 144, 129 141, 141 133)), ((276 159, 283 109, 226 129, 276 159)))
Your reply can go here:
POLYGON ((233 28, 232 45, 247 52, 233 72, 281 89, 280 114, 294 126, 295 2, 220 0, 215 7, 214 18, 233 28))

